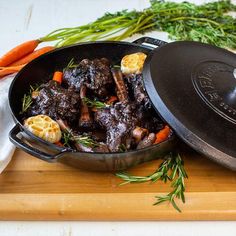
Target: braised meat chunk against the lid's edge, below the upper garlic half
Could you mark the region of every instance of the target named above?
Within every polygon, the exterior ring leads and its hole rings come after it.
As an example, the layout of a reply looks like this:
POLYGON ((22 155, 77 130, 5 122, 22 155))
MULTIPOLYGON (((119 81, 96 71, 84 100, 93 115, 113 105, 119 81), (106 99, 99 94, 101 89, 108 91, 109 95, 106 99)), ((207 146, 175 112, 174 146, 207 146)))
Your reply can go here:
POLYGON ((145 108, 151 108, 151 101, 145 90, 142 74, 127 75, 124 79, 127 83, 131 100, 134 100, 139 105, 144 105, 145 108))

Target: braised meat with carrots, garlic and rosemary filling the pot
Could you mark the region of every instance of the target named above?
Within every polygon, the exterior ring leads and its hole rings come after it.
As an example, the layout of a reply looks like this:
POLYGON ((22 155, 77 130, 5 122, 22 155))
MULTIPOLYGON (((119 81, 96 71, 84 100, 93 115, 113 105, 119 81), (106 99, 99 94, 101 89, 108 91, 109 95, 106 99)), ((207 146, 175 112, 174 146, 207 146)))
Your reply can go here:
POLYGON ((120 65, 107 58, 72 58, 24 95, 24 124, 46 141, 84 152, 126 152, 167 140, 171 130, 144 89, 145 59, 142 52, 124 56, 120 65), (60 136, 45 129, 45 117, 58 124, 60 136))

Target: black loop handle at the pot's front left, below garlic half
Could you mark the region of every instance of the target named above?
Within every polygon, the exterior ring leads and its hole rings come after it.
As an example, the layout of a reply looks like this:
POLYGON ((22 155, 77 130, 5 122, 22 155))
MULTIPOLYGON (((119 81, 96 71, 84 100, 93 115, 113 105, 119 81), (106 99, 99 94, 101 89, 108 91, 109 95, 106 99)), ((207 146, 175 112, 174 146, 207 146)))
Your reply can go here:
POLYGON ((66 150, 62 150, 57 154, 49 154, 43 151, 40 151, 32 146, 30 146, 29 144, 27 144, 26 142, 24 142, 24 140, 22 140, 21 138, 19 138, 17 135, 21 133, 21 129, 19 127, 18 124, 16 124, 12 130, 9 132, 9 139, 10 141, 18 148, 24 150, 25 152, 29 153, 30 155, 33 155, 41 160, 47 161, 47 162, 56 162, 57 159, 64 154, 65 152, 67 152, 66 150))

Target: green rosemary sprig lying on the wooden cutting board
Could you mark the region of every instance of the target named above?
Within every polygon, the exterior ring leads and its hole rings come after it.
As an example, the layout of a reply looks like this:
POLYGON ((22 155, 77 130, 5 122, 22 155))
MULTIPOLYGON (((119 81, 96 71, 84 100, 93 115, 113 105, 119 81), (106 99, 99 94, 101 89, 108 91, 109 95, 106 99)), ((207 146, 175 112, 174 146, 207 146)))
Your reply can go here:
POLYGON ((161 163, 159 168, 147 176, 135 176, 127 173, 117 173, 117 177, 124 180, 121 185, 128 183, 144 183, 144 182, 156 182, 162 180, 163 182, 172 181, 171 187, 173 191, 165 196, 156 196, 157 202, 154 205, 158 205, 163 202, 170 202, 172 206, 179 212, 180 208, 177 206, 175 199, 181 199, 185 203, 185 183, 184 179, 188 178, 187 173, 184 169, 184 163, 179 154, 170 154, 161 163))

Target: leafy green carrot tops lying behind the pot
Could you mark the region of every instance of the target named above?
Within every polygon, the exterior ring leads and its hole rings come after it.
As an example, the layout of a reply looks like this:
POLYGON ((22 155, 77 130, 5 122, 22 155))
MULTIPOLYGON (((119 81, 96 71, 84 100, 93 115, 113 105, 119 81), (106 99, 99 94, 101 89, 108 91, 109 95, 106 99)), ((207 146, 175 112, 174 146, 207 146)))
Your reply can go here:
POLYGON ((230 0, 195 5, 193 3, 151 0, 143 11, 123 10, 106 13, 86 25, 62 28, 42 37, 57 47, 76 42, 123 40, 136 33, 167 32, 172 40, 190 40, 236 49, 236 19, 227 13, 236 11, 230 0))

